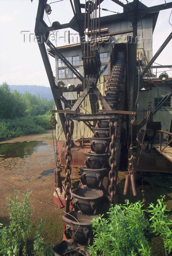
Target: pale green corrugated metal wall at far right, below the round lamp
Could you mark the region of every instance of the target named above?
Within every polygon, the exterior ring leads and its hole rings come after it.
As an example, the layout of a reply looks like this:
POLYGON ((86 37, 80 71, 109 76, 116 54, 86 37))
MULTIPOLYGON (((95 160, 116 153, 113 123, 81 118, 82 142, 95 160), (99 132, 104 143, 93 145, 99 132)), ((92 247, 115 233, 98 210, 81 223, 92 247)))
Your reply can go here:
MULTIPOLYGON (((151 101, 151 107, 154 107, 155 98, 164 98, 164 96, 171 91, 170 86, 161 87, 164 91, 153 87, 152 90, 149 91, 139 91, 138 96, 138 124, 146 117, 148 111, 148 103, 151 101), (144 101, 143 101, 144 99, 144 101)), ((172 99, 171 99, 172 101, 172 99)), ((172 103, 172 102, 171 102, 172 103)), ((154 122, 161 121, 161 129, 164 131, 169 131, 172 119, 172 108, 161 108, 158 110, 156 114, 153 116, 154 122)), ((143 127, 145 129, 145 126, 143 127)), ((164 139, 166 139, 167 135, 164 135, 164 139)))

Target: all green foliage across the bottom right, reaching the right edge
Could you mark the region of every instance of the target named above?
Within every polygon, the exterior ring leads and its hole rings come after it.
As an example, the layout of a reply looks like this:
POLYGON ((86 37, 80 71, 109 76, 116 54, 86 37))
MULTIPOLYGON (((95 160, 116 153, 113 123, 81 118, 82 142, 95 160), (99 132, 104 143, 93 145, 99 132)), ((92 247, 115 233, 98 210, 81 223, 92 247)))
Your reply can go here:
POLYGON ((142 203, 129 204, 127 200, 124 205, 111 207, 107 218, 100 215, 93 219, 94 238, 93 244, 89 246, 92 256, 150 256, 152 252, 147 240, 148 230, 163 238, 165 255, 169 255, 172 249, 172 231, 169 225, 172 220, 165 215, 167 209, 163 199, 164 197, 157 200, 155 207, 150 204, 147 210, 141 210, 144 206, 142 203))

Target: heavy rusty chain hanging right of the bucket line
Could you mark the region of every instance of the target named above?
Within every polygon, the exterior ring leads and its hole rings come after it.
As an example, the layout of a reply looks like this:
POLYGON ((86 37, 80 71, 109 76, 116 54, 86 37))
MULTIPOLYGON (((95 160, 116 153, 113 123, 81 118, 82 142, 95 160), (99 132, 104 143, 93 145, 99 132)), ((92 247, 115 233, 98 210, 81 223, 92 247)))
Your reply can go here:
POLYGON ((117 147, 115 145, 115 141, 117 138, 117 131, 116 131, 116 122, 114 123, 114 128, 115 128, 115 133, 112 134, 111 136, 111 143, 109 145, 109 150, 111 152, 111 156, 109 158, 109 165, 111 167, 111 170, 109 172, 109 180, 110 180, 110 185, 108 188, 108 192, 110 194, 110 202, 111 203, 115 203, 114 201, 114 196, 116 194, 117 191, 117 178, 118 178, 118 172, 116 169, 117 166, 117 162, 116 162, 116 157, 115 157, 115 153, 117 151, 117 147))

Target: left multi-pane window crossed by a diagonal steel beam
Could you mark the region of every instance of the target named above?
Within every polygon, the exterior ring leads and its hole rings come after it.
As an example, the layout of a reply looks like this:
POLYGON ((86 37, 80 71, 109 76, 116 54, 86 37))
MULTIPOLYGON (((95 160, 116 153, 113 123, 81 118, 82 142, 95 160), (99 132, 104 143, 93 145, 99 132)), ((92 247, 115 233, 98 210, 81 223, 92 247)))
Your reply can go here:
MULTIPOLYGON (((72 56, 72 57, 66 57, 66 59, 73 65, 79 65, 79 56, 72 56)), ((66 65, 61 61, 61 59, 58 59, 58 78, 69 78, 69 77, 76 77, 76 75, 74 75, 72 73, 72 71, 70 71, 69 68, 63 68, 66 67, 66 65), (62 69, 60 69, 62 68, 62 69)), ((76 68, 76 67, 75 67, 76 68)), ((77 71, 80 71, 79 67, 76 68, 77 71)))

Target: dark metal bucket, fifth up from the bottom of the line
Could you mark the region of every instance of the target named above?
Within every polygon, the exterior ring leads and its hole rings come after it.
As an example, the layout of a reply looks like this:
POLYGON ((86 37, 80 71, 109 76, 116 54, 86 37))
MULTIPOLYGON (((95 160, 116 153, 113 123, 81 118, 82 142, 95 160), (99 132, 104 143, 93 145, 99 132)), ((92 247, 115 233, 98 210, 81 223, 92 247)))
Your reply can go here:
POLYGON ((84 152, 85 158, 85 165, 88 169, 102 169, 105 166, 105 162, 109 158, 109 154, 92 154, 88 152, 84 152))

